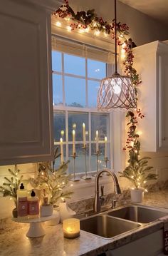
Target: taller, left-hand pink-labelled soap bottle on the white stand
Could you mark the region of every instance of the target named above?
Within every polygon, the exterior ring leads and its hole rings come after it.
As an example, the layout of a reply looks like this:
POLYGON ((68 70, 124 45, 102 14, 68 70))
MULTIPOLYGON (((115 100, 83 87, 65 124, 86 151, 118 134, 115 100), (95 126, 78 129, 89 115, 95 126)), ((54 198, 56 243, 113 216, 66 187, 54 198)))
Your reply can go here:
POLYGON ((20 220, 25 220, 28 218, 28 198, 27 190, 24 188, 23 183, 21 183, 19 190, 17 190, 17 201, 18 218, 20 220))

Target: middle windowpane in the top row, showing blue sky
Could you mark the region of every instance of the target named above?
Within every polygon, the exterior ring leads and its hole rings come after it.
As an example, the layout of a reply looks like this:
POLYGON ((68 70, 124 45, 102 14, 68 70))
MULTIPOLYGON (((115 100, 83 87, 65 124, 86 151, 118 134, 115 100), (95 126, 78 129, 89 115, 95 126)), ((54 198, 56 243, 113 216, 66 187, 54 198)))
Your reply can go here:
POLYGON ((85 76, 85 58, 64 54, 64 70, 65 73, 85 76))

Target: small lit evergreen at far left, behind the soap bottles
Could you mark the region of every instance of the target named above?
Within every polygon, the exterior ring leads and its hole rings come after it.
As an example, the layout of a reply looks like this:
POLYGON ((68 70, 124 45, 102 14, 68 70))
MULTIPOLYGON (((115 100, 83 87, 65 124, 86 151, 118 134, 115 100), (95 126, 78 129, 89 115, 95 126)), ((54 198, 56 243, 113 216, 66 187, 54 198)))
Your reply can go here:
POLYGON ((14 200, 14 204, 17 208, 17 190, 23 179, 23 175, 19 178, 20 170, 17 168, 17 165, 14 165, 14 170, 9 169, 9 174, 11 178, 4 177, 4 183, 0 186, 0 194, 4 197, 10 196, 14 200))

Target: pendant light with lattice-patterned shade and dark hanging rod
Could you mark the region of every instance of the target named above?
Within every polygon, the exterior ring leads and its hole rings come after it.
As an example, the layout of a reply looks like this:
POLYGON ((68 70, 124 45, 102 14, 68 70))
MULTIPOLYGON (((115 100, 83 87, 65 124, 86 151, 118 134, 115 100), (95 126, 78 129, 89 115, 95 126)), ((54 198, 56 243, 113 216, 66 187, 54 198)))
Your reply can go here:
POLYGON ((98 90, 98 108, 111 110, 112 108, 129 109, 137 107, 135 88, 129 76, 117 73, 117 8, 115 0, 115 73, 103 78, 98 90))

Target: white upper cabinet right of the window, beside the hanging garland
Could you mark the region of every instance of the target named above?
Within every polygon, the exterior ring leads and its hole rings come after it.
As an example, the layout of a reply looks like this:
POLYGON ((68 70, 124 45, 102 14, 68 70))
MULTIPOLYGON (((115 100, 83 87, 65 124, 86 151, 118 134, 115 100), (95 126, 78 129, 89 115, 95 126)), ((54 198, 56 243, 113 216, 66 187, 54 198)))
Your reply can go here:
POLYGON ((145 114, 138 130, 143 151, 168 150, 168 45, 160 41, 134 48, 134 66, 142 83, 138 106, 145 114))

